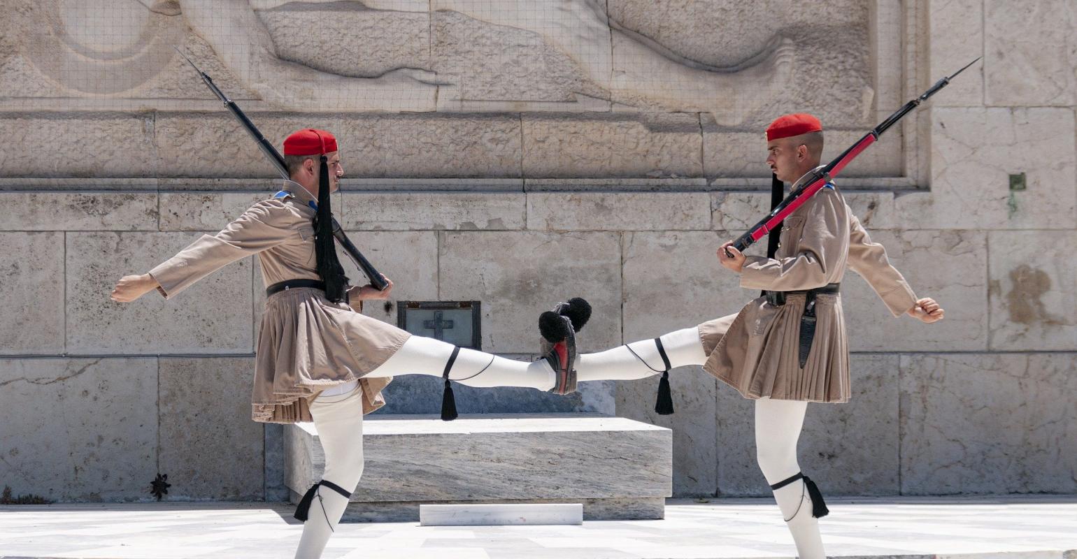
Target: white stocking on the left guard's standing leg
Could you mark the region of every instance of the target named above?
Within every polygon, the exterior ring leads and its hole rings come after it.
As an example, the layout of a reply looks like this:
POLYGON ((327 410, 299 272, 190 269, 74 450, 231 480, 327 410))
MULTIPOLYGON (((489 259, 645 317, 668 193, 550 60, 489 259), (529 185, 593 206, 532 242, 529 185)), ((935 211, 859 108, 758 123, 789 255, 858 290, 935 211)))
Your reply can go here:
MULTIPOLYGON (((322 479, 351 492, 363 475, 363 391, 355 389, 347 394, 319 396, 310 404, 318 438, 325 451, 325 472, 322 479)), ((319 487, 310 504, 303 536, 295 551, 296 559, 318 559, 325 549, 348 506, 348 498, 327 488, 319 487)))

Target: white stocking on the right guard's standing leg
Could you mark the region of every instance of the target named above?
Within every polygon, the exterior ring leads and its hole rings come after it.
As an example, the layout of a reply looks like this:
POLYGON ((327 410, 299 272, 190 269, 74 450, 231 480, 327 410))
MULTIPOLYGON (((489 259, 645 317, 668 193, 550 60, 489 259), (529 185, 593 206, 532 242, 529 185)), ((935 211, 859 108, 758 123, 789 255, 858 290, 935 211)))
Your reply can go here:
MULTIPOLYGON (((807 409, 807 402, 768 397, 755 401, 756 458, 767 484, 778 484, 800 472, 797 439, 807 409)), ((825 559, 819 519, 812 516, 812 501, 805 481, 798 479, 775 489, 774 500, 793 533, 800 559, 825 559)))

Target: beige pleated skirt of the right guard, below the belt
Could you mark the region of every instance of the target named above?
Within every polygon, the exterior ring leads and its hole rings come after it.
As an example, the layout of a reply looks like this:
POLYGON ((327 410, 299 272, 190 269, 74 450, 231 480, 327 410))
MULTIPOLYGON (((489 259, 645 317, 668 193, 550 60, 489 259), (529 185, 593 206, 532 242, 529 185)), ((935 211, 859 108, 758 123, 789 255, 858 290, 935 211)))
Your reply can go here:
POLYGON ((800 366, 800 317, 806 297, 774 306, 764 297, 736 316, 699 325, 709 357, 703 369, 747 399, 848 402, 849 346, 840 295, 815 298, 815 337, 800 366))

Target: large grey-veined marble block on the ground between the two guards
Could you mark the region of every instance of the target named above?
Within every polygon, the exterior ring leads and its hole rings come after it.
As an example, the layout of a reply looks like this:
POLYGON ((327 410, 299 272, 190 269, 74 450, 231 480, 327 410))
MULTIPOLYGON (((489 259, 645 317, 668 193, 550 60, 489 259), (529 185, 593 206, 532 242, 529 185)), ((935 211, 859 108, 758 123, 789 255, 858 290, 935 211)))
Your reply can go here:
MULTIPOLYGON (((350 507, 367 520, 379 509, 400 518, 402 507, 417 519, 419 503, 565 501, 583 502, 589 519, 660 518, 655 505, 671 493, 670 431, 629 419, 383 416, 363 431, 366 464, 350 507)), ((325 458, 312 423, 288 427, 284 444, 295 498, 320 479, 325 458)))

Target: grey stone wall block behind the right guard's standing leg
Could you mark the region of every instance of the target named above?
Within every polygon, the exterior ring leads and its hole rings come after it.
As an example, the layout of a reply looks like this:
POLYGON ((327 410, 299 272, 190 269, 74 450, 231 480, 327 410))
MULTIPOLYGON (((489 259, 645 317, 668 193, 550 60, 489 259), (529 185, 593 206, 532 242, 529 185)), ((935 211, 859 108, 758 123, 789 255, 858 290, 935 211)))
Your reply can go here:
MULTIPOLYGON (((854 354, 850 368, 848 404, 808 404, 800 467, 824 495, 898 494, 898 357, 854 354)), ((756 462, 754 417, 753 401, 719 383, 718 494, 771 494, 756 462)))

